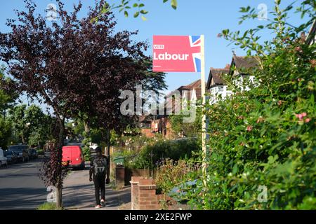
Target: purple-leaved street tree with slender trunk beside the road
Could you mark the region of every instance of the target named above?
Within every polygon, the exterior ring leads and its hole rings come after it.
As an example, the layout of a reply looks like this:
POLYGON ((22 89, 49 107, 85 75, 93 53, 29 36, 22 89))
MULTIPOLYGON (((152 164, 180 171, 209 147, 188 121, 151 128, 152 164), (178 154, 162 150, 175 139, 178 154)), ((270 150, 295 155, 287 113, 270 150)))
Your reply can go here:
POLYGON ((106 128, 119 125, 121 90, 132 90, 147 77, 147 44, 131 40, 136 31, 114 31, 112 13, 99 15, 105 1, 78 18, 81 2, 69 13, 58 0, 58 20, 53 21, 35 14, 32 1, 25 3, 25 11, 17 10, 18 21, 7 22, 12 31, 0 33, 0 59, 14 80, 6 90, 27 94, 53 110, 56 144, 43 174, 46 185, 57 189, 56 205, 62 207, 65 119, 82 113, 97 117, 106 128), (97 16, 98 23, 91 22, 97 16))

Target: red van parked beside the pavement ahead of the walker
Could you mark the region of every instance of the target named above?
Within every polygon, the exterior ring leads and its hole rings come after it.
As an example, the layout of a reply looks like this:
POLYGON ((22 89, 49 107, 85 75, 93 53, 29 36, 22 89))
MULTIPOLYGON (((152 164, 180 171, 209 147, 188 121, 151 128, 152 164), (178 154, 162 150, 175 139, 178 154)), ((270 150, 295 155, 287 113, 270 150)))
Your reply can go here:
POLYGON ((80 146, 63 146, 62 147, 62 165, 69 167, 84 169, 84 153, 80 146))

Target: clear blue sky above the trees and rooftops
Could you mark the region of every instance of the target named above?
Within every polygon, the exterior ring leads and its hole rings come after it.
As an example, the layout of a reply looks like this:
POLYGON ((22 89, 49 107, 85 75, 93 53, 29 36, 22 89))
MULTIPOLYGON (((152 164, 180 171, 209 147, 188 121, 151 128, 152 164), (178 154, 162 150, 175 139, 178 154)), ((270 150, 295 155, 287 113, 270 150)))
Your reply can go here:
MULTIPOLYGON (((139 30, 138 36, 134 38, 138 41, 149 41, 152 43, 153 35, 205 35, 206 41, 206 78, 209 76, 210 67, 223 68, 225 64, 230 64, 232 58, 232 50, 234 45, 229 45, 222 38, 218 38, 217 34, 223 29, 244 31, 250 27, 265 25, 265 21, 253 20, 251 22, 238 25, 238 13, 241 6, 257 7, 260 3, 265 3, 270 11, 274 0, 178 0, 178 9, 173 10, 170 3, 162 3, 162 0, 142 0, 146 5, 147 21, 140 18, 134 19, 133 16, 125 18, 123 13, 114 11, 118 24, 117 31, 127 29, 129 31, 139 30)), ((38 13, 43 13, 48 3, 55 3, 53 0, 35 0, 38 6, 38 13)), ((67 0, 66 8, 72 10, 72 5, 78 3, 79 0, 67 0)), ((84 0, 84 9, 81 15, 84 16, 88 6, 94 1, 84 0)), ((118 2, 118 0, 110 0, 118 2)), ((287 0, 285 3, 289 3, 287 0)), ((22 0, 1 1, 0 9, 0 31, 6 32, 7 18, 16 18, 13 9, 24 8, 22 0)), ((130 13, 133 14, 132 11, 130 13)), ((289 23, 297 25, 300 23, 298 15, 290 15, 289 23)), ((263 39, 271 38, 272 34, 268 32, 263 34, 263 39)), ((239 49, 234 49, 237 55, 245 55, 239 49)), ((147 52, 150 55, 152 49, 147 52)), ((180 85, 187 85, 199 79, 199 73, 167 73, 166 83, 169 90, 174 90, 180 85)))

